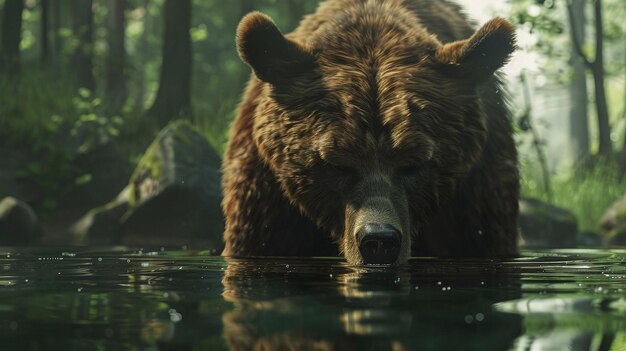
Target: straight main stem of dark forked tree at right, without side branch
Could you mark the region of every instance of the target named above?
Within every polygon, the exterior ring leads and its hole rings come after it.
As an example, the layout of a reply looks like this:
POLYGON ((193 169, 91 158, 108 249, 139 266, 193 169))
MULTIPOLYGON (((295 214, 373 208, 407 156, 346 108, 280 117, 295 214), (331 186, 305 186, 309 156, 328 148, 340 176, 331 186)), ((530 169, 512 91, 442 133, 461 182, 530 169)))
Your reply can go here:
POLYGON ((611 144, 611 125, 609 124, 609 109, 606 104, 606 92, 604 90, 604 40, 602 31, 602 0, 595 0, 595 37, 596 57, 593 62, 593 82, 596 95, 596 113, 598 115, 599 153, 609 155, 613 151, 611 144))

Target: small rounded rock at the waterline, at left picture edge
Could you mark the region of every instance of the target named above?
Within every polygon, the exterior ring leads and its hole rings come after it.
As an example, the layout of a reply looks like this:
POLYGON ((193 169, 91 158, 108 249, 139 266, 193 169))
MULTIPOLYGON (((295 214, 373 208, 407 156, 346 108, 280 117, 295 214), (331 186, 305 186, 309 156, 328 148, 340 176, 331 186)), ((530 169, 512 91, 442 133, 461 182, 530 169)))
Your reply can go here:
POLYGON ((41 235, 37 215, 28 204, 10 196, 0 201, 0 245, 32 245, 41 235))

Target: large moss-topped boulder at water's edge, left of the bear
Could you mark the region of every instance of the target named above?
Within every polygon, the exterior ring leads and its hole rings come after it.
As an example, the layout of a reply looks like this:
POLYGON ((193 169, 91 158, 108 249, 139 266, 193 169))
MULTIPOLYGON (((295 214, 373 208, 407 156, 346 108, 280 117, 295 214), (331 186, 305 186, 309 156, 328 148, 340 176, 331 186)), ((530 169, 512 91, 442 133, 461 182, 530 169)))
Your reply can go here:
POLYGON ((72 227, 88 243, 221 249, 221 160, 186 122, 165 127, 130 184, 72 227))

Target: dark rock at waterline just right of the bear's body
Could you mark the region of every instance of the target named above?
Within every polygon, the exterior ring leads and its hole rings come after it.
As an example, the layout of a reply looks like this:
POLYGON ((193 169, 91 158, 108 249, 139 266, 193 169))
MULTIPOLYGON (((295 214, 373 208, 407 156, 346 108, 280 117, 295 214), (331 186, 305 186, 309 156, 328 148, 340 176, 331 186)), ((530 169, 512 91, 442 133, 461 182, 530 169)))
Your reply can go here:
POLYGON ((519 225, 528 248, 575 247, 576 216, 537 199, 520 200, 519 225))

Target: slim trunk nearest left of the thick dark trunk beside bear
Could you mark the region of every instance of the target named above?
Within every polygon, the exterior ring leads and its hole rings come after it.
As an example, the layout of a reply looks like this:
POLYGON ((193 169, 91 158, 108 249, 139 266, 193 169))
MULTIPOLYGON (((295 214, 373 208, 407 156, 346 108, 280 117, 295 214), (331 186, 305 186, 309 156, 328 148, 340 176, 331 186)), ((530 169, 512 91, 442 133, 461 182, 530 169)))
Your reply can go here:
POLYGON ((108 53, 106 62, 106 97, 107 109, 111 113, 119 112, 126 101, 126 77, 124 74, 126 49, 124 18, 126 0, 108 0, 109 16, 107 20, 108 53))

